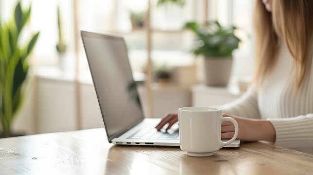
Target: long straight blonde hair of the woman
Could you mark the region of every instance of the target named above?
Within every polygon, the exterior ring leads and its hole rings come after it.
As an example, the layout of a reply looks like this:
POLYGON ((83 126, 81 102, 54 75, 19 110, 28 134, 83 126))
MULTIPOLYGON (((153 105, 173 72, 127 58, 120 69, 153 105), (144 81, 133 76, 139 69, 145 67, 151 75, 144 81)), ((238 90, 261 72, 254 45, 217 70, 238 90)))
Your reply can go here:
POLYGON ((260 85, 274 69, 279 41, 285 42, 295 63, 295 89, 300 88, 310 62, 313 33, 313 0, 272 0, 272 13, 256 0, 255 34, 257 69, 254 80, 260 85))

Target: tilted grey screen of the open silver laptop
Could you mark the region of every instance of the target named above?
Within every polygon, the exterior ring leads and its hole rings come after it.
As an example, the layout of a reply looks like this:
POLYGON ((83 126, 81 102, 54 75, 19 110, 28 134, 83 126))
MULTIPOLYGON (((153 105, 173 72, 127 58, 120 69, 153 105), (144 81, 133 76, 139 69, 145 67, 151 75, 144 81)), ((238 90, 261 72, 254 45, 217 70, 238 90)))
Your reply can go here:
POLYGON ((143 120, 121 37, 81 32, 109 141, 143 120))

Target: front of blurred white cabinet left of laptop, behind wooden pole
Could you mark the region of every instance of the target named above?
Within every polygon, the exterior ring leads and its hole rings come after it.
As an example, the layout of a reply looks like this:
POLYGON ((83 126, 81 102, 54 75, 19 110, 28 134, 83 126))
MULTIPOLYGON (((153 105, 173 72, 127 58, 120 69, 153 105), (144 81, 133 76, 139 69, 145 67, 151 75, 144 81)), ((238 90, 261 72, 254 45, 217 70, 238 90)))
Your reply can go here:
MULTIPOLYGON (((38 133, 78 129, 74 81, 38 79, 38 133)), ((81 129, 104 127, 93 85, 80 84, 81 129)))

